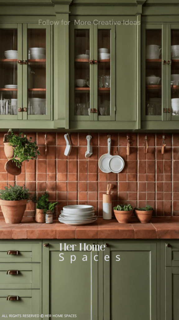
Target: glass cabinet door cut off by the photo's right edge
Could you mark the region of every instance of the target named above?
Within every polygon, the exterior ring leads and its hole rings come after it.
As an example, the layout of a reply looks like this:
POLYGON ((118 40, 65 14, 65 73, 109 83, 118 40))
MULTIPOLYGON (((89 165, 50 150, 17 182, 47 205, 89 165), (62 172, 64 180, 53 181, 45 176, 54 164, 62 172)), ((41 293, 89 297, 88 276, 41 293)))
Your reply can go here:
POLYGON ((167 120, 179 120, 179 26, 167 26, 167 120))

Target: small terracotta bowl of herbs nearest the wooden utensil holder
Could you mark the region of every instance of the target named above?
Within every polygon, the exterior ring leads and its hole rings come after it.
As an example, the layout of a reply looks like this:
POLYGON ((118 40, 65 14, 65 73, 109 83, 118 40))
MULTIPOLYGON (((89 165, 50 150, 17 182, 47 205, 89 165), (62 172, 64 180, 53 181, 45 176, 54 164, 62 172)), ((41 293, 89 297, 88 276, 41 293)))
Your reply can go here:
POLYGON ((113 207, 114 214, 119 223, 128 223, 133 212, 133 208, 130 204, 122 205, 118 204, 117 207, 113 207))

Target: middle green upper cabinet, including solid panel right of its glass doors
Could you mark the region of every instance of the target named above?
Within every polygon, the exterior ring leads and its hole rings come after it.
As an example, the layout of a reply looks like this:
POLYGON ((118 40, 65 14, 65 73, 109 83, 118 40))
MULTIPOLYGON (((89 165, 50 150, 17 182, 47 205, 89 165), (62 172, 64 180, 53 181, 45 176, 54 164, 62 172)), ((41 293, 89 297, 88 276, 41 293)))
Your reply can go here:
POLYGON ((69 128, 139 128, 138 16, 70 20, 69 128))

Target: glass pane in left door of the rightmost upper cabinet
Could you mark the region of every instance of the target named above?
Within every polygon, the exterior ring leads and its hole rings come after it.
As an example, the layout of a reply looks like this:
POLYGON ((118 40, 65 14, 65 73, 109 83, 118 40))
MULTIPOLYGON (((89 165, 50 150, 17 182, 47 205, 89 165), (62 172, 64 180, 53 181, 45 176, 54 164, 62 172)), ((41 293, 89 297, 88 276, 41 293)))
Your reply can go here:
POLYGON ((146 116, 161 116, 161 29, 146 29, 146 116))

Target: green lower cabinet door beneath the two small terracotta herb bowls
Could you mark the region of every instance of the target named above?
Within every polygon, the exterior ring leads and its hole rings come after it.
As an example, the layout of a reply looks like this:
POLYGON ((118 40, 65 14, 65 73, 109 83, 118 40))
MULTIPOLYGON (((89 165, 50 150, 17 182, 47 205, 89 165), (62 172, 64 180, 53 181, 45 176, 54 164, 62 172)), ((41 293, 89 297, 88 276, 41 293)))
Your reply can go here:
POLYGON ((104 251, 104 320, 159 319, 156 246, 108 242, 104 251))

